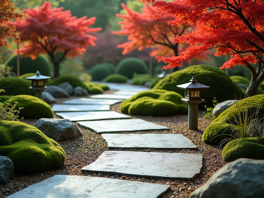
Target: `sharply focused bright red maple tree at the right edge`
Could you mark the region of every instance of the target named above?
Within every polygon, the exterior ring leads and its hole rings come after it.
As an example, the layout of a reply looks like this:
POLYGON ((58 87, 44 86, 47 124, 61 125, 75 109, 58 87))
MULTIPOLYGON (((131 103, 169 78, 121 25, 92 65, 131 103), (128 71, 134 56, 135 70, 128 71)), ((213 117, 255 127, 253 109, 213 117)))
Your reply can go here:
POLYGON ((156 57, 168 63, 164 69, 182 65, 184 60, 199 57, 209 49, 216 49, 215 56, 231 55, 231 59, 221 68, 231 68, 237 64, 251 70, 252 78, 247 94, 257 92, 264 79, 264 2, 262 0, 184 0, 166 2, 163 0, 143 0, 152 2, 159 12, 153 18, 175 16, 171 25, 193 24, 196 29, 186 35, 176 36, 177 43, 191 46, 179 56, 156 57), (257 64, 257 69, 252 64, 257 64))

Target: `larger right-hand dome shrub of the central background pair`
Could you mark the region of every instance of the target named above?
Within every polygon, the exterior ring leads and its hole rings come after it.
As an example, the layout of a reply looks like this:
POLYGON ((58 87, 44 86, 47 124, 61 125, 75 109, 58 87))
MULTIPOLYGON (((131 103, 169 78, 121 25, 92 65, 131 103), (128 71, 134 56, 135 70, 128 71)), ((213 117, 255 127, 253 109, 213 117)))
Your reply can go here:
POLYGON ((128 57, 121 60, 115 70, 117 74, 122 74, 129 79, 133 78, 134 73, 147 74, 148 67, 145 62, 135 57, 128 57))

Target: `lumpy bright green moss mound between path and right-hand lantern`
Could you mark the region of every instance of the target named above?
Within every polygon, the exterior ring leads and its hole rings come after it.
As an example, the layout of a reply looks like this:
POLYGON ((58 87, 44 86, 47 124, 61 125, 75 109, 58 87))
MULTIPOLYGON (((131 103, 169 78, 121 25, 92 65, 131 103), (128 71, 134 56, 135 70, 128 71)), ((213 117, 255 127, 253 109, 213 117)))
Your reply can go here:
POLYGON ((183 97, 180 94, 173 91, 152 89, 140 92, 124 100, 120 105, 120 111, 131 115, 152 116, 171 116, 178 113, 188 114, 188 105, 182 102, 181 98, 183 97), (164 108, 170 107, 172 109, 162 110, 162 103, 164 103, 164 108), (172 107, 172 105, 175 107, 172 107))

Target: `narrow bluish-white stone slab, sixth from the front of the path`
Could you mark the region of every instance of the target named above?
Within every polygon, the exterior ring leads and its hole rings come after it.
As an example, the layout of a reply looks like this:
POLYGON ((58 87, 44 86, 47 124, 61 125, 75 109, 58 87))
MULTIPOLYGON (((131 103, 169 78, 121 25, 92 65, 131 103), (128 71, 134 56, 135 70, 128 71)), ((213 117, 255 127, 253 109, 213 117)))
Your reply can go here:
POLYGON ((54 112, 71 112, 71 111, 110 111, 110 105, 53 105, 54 112))

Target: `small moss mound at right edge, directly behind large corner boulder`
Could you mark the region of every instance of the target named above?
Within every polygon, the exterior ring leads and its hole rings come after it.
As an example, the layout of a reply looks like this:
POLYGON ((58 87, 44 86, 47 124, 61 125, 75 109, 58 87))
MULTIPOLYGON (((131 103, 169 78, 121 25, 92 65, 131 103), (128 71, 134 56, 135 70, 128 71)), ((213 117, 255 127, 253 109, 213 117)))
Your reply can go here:
POLYGON ((222 151, 225 162, 232 162, 238 158, 264 159, 264 138, 241 138, 225 145, 222 151))

